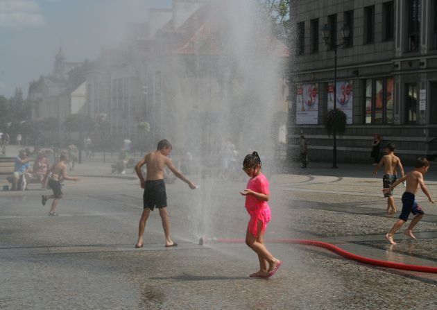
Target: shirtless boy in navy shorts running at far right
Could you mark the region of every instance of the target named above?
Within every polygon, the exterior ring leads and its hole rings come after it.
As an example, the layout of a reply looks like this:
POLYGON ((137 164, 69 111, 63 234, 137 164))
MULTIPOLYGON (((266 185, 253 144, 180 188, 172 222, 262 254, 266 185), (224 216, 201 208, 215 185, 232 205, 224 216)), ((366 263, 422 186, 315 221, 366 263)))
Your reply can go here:
POLYGON ((429 201, 431 203, 434 203, 434 200, 429 195, 429 191, 427 187, 425 187, 425 181, 423 180, 423 175, 427 173, 428 169, 429 169, 428 160, 424 157, 419 157, 415 161, 414 171, 406 173, 406 175, 404 175, 402 178, 400 178, 395 183, 393 183, 391 187, 382 190, 383 193, 386 193, 397 187, 397 185, 400 184, 400 182, 406 181, 406 189, 404 194, 402 195, 402 212, 399 216, 399 220, 396 221, 395 225, 393 225, 391 230, 386 234, 386 239, 391 244, 396 244, 395 241, 393 241, 393 235, 408 220, 408 216, 410 215, 410 213, 413 213, 415 217, 413 218, 413 221, 411 221, 409 227, 406 228, 404 234, 406 234, 406 236, 409 236, 412 239, 415 239, 415 236, 413 235, 413 228, 422 219, 423 215, 425 214, 425 212, 423 212, 420 205, 418 205, 418 203, 415 202, 415 193, 418 191, 419 186, 420 189, 422 189, 423 193, 425 193, 425 195, 428 197, 429 201))

